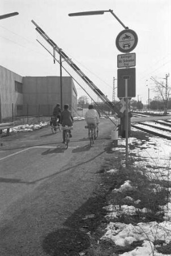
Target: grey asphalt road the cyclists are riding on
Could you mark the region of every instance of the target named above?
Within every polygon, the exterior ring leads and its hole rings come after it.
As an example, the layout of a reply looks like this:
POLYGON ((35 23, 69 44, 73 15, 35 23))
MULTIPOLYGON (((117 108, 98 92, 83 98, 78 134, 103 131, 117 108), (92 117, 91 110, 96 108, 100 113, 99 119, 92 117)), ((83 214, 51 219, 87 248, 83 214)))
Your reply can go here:
POLYGON ((49 126, 1 138, 0 255, 53 255, 44 241, 93 195, 113 125, 101 119, 92 148, 84 126, 74 122, 67 150, 49 126))

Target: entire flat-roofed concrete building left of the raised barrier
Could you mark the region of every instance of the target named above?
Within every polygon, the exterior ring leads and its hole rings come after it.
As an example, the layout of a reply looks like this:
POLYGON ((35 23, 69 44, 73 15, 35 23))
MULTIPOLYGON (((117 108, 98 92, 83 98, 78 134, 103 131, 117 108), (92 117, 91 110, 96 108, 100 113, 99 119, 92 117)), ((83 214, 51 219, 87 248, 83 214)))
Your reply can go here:
MULTIPOLYGON (((26 115, 52 114, 61 104, 60 77, 22 77, 0 66, 0 122, 26 115)), ((77 91, 72 77, 62 77, 62 105, 77 110, 77 91)))

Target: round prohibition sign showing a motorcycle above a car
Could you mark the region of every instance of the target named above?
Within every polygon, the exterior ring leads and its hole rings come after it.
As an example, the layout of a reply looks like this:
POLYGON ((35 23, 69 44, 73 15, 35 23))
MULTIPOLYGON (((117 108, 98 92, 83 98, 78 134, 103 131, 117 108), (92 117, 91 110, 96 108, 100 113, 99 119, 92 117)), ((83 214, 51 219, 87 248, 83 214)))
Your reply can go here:
POLYGON ((123 30, 116 37, 116 47, 120 52, 131 52, 137 45, 137 35, 134 30, 123 30))

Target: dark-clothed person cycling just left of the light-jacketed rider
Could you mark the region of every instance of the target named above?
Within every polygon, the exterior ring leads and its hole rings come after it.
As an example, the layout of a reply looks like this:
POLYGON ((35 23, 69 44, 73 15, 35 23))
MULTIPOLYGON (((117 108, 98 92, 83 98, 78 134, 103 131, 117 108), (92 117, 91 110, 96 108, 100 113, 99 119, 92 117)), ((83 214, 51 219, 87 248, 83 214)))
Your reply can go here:
MULTIPOLYGON (((69 105, 65 104, 64 105, 64 110, 61 112, 61 125, 62 127, 65 127, 65 125, 67 125, 68 127, 73 126, 73 117, 72 114, 70 112, 69 109, 69 105)), ((69 130, 69 137, 72 137, 71 131, 69 130)), ((62 133, 62 138, 63 141, 62 143, 65 143, 65 130, 63 130, 62 133)))

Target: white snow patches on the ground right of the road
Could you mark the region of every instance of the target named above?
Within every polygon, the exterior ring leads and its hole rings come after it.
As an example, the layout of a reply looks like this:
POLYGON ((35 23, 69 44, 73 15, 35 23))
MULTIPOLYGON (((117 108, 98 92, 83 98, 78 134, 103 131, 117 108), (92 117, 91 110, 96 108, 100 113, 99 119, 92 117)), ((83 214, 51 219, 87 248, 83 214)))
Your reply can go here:
MULTIPOLYGON (((133 130, 133 129, 132 129, 133 130)), ((135 129, 136 130, 136 129, 135 129)), ((134 153, 134 158, 137 159, 134 162, 135 167, 145 168, 145 173, 148 174, 149 180, 171 180, 171 141, 159 137, 148 137, 148 141, 139 141, 136 138, 129 138, 128 143, 130 146, 136 143, 136 149, 130 150, 130 153, 134 153), (144 160, 140 160, 144 159, 144 160)), ((118 145, 125 146, 125 139, 119 138, 118 145)), ((121 148, 113 148, 113 151, 120 150, 121 148)), ((125 148, 122 148, 125 150, 125 148)), ((110 174, 117 172, 116 169, 108 171, 110 174)), ((159 184, 156 184, 159 186, 159 184)), ((126 192, 131 188, 131 181, 126 180, 124 184, 115 191, 126 192)), ((159 189, 160 187, 156 187, 159 189)), ((154 188, 155 189, 155 188, 154 188)), ((169 188, 171 191, 171 188, 169 188)), ((125 197, 128 201, 133 201, 130 196, 125 197)), ((168 244, 171 240, 171 197, 168 200, 168 204, 161 209, 164 210, 164 220, 161 223, 148 222, 138 223, 136 225, 124 224, 120 222, 110 222, 107 225, 106 233, 102 236, 102 240, 112 240, 116 245, 127 246, 134 241, 143 241, 141 246, 127 253, 119 254, 119 256, 171 256, 170 254, 158 253, 154 242, 156 240, 163 240, 165 244, 168 244)), ((134 203, 139 203, 139 200, 134 203)), ((139 209, 133 206, 122 205, 108 205, 105 209, 109 212, 106 218, 118 218, 119 214, 134 215, 137 211, 148 212, 149 209, 139 209)))

